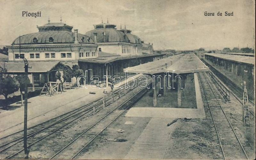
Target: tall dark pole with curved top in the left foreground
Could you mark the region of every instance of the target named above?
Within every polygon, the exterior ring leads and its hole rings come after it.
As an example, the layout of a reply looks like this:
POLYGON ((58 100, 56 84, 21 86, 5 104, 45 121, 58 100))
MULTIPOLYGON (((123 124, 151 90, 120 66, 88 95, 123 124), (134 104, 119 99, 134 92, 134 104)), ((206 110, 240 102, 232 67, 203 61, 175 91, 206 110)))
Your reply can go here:
POLYGON ((25 84, 24 84, 24 91, 25 91, 25 104, 24 104, 24 140, 23 140, 23 146, 24 146, 24 152, 26 158, 28 158, 28 147, 27 147, 27 120, 28 120, 28 68, 31 68, 28 66, 28 61, 23 56, 19 56, 23 59, 25 63, 25 84))

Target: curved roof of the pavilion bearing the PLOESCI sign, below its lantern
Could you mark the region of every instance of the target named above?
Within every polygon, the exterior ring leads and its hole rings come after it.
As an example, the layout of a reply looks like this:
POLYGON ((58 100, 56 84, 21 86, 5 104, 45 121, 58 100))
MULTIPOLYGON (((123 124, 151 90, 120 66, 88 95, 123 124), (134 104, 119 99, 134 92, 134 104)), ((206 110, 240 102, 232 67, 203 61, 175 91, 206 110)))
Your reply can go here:
MULTIPOLYGON (((16 38, 12 44, 42 44, 42 43, 74 43, 75 33, 70 31, 48 31, 22 35, 16 38)), ((93 39, 78 34, 79 43, 94 43, 93 39)))

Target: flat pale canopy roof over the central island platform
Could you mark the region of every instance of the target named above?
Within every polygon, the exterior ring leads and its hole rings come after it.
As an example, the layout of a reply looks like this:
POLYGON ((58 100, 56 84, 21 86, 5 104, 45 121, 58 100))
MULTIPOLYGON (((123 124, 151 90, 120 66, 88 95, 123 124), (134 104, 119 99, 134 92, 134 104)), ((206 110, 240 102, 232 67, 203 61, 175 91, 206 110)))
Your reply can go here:
POLYGON ((209 68, 194 53, 188 53, 124 68, 124 72, 125 71, 143 74, 157 74, 163 72, 182 74, 209 71, 209 68))

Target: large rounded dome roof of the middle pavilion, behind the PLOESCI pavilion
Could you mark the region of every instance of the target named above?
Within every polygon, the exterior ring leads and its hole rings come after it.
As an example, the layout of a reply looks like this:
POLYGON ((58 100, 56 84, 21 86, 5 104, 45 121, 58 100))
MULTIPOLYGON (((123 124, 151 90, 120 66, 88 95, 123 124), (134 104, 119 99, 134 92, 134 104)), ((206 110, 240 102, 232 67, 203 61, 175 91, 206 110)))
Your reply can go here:
POLYGON ((97 33, 97 42, 104 42, 103 32, 106 35, 106 42, 128 42, 128 37, 121 31, 118 31, 114 28, 106 29, 94 29, 85 33, 85 35, 93 39, 94 33, 97 33))

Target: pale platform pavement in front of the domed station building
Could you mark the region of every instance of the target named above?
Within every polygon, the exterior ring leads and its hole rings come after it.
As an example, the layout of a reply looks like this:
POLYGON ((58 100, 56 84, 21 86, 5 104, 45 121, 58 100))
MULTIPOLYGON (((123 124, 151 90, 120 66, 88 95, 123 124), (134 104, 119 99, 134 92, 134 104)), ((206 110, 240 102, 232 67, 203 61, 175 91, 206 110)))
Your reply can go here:
MULTIPOLYGON (((135 75, 138 78, 142 74, 135 75)), ((131 81, 132 79, 129 79, 131 81)), ((125 80, 121 81, 123 85, 125 80)), ((117 84, 118 85, 118 84, 117 84)), ((115 85, 116 86, 116 85, 115 85)), ((118 88, 114 88, 116 90, 118 88)), ((28 127, 86 105, 107 94, 103 88, 74 88, 53 96, 41 95, 28 99, 28 127), (89 94, 94 92, 95 94, 89 94)), ((105 89, 110 93, 111 88, 105 89)), ((23 129, 24 105, 21 102, 10 105, 13 110, 0 110, 0 138, 23 129)))

